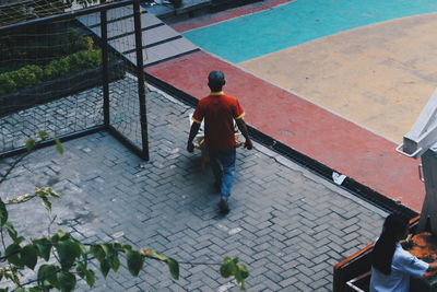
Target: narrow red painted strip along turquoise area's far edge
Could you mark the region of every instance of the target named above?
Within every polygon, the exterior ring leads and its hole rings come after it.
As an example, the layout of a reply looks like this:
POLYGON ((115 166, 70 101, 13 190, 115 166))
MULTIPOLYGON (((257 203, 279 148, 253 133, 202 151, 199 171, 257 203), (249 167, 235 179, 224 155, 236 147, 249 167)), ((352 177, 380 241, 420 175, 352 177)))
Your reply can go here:
POLYGON ((255 2, 252 4, 247 4, 244 7, 225 10, 225 11, 217 12, 214 14, 206 14, 203 16, 198 16, 196 19, 191 19, 189 22, 175 23, 175 24, 172 24, 172 27, 179 33, 184 33, 187 31, 191 31, 191 30, 206 26, 210 24, 214 24, 217 22, 227 21, 227 20, 235 19, 238 16, 268 10, 268 9, 271 9, 271 8, 281 5, 281 4, 285 4, 285 3, 292 2, 292 1, 294 1, 294 0, 263 0, 260 2, 255 2))

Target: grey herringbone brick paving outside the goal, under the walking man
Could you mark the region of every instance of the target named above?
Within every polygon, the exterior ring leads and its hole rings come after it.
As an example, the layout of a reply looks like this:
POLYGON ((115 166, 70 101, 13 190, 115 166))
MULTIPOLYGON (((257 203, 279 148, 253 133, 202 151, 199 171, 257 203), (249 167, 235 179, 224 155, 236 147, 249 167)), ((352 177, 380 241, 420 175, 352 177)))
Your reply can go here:
MULTIPOLYGON (((185 262, 238 256, 249 267, 248 291, 331 291, 332 266, 377 236, 385 212, 256 144, 238 150, 232 210, 220 215, 212 175, 201 170, 199 153, 185 150, 192 110, 149 92, 150 162, 99 132, 66 142, 63 156, 52 148, 27 156, 0 196, 50 185, 62 195, 54 202, 52 232, 147 247, 185 262)), ((1 161, 0 173, 13 160, 1 161)), ((10 210, 20 232, 47 234, 38 201, 10 210)), ((146 261, 139 278, 110 272, 92 291, 238 291, 217 269, 181 265, 181 279, 173 281, 165 265, 146 261)), ((80 291, 91 290, 80 283, 80 291)))

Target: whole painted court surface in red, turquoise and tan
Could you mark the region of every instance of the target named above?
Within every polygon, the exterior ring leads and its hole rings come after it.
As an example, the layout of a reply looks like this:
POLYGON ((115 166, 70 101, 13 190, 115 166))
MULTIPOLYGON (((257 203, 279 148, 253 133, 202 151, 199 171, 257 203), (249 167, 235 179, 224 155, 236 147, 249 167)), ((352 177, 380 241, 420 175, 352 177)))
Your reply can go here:
POLYGON ((146 72, 201 98, 224 70, 252 127, 420 212, 418 162, 394 149, 436 84, 436 2, 267 2, 175 24, 204 50, 146 72))

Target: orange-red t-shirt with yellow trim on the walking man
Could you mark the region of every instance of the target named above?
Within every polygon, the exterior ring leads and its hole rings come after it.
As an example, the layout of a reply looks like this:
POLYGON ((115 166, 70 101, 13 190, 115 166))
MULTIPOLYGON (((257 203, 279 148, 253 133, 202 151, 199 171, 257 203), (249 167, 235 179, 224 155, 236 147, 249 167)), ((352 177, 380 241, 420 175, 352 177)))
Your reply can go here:
POLYGON ((192 120, 200 124, 204 118, 205 142, 209 148, 231 150, 236 144, 234 119, 244 116, 245 112, 236 97, 223 92, 212 92, 199 101, 192 120))

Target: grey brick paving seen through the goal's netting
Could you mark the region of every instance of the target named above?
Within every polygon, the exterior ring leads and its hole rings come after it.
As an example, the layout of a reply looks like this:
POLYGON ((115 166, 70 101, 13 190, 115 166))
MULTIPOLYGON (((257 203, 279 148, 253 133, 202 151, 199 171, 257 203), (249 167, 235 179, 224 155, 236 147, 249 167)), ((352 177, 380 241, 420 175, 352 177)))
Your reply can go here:
MULTIPOLYGON (((110 125, 141 145, 137 79, 127 73, 109 84, 110 125)), ((24 145, 39 130, 60 137, 103 125, 103 91, 93 87, 0 118, 0 151, 24 145)))

